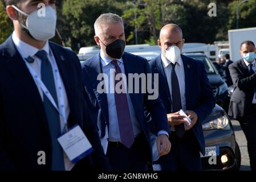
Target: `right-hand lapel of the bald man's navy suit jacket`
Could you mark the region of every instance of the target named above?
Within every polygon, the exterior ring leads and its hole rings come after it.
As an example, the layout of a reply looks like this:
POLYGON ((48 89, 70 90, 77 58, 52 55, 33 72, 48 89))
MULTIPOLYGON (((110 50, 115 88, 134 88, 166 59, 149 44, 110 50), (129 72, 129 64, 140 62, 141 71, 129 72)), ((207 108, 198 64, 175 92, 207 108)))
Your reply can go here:
POLYGON ((186 109, 190 108, 190 98, 191 98, 191 88, 192 88, 192 65, 189 63, 188 59, 181 55, 181 59, 184 66, 184 73, 185 73, 185 95, 186 95, 186 109))

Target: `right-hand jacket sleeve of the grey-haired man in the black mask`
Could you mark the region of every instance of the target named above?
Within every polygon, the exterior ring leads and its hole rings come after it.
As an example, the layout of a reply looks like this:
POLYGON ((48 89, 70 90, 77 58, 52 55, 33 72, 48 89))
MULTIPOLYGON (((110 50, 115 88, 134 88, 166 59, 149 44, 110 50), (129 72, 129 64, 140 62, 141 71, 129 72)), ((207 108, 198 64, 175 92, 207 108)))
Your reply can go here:
MULTIPOLYGON (((149 63, 147 60, 145 61, 145 73, 149 74, 152 73, 151 68, 149 66, 149 63)), ((152 74, 152 80, 147 80, 147 86, 149 83, 152 83, 151 88, 154 88, 156 84, 158 84, 157 80, 153 80, 154 75, 152 74), (157 82, 156 82, 157 81, 157 82)), ((149 111, 153 125, 155 126, 156 133, 159 133, 159 131, 164 130, 167 133, 169 133, 169 126, 168 126, 168 120, 167 120, 167 113, 164 108, 164 104, 162 100, 159 97, 159 90, 154 89, 153 93, 145 94, 145 107, 149 111), (149 98, 149 96, 153 96, 156 94, 156 98, 149 98)))

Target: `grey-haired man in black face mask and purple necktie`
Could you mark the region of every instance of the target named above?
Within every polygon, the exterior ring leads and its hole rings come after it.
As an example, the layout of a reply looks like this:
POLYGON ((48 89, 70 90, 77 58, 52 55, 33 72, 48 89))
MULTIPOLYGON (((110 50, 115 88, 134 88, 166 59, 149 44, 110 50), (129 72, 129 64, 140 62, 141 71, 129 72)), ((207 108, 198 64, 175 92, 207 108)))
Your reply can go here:
POLYGON ((148 90, 141 90, 152 85, 147 83, 148 80, 126 84, 131 75, 151 73, 148 61, 124 52, 124 24, 120 16, 102 14, 94 26, 94 39, 100 46, 100 53, 86 60, 82 69, 87 101, 99 128, 101 144, 113 170, 147 170, 147 163, 152 161, 152 151, 144 107, 155 119, 159 154, 165 155, 170 151, 162 101, 159 97, 151 100, 148 90), (139 86, 139 92, 135 92, 136 86, 139 86))

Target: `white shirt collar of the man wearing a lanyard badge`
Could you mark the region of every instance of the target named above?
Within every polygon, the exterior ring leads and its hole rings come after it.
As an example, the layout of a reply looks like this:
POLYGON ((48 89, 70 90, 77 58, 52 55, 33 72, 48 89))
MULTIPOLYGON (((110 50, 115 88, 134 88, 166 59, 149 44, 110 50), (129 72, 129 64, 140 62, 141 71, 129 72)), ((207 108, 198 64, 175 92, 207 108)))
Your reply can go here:
POLYGON ((27 58, 29 56, 34 57, 35 54, 40 50, 46 51, 47 55, 51 54, 48 41, 46 42, 46 44, 44 45, 44 47, 42 49, 38 49, 34 46, 31 46, 30 44, 23 42, 21 39, 19 39, 18 36, 16 35, 15 31, 13 32, 12 38, 13 38, 13 42, 14 42, 15 46, 17 47, 19 53, 21 54, 21 56, 23 58, 27 58))

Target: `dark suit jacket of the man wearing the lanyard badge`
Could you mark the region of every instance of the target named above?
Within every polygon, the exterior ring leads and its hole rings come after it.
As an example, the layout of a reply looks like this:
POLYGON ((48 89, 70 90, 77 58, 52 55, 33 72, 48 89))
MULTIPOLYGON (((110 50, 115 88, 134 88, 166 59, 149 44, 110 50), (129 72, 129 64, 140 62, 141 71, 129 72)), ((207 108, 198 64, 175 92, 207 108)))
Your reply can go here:
MULTIPOLYGON (((74 52, 50 43, 67 92, 68 126, 78 124, 94 152, 74 169, 110 169, 84 100, 82 69, 74 52)), ((13 39, 0 46, 0 169, 50 170, 51 137, 38 88, 13 39), (38 152, 46 165, 38 165, 38 152)))

